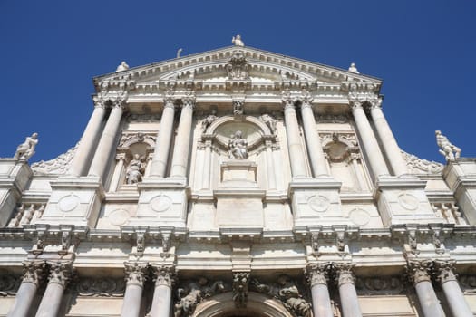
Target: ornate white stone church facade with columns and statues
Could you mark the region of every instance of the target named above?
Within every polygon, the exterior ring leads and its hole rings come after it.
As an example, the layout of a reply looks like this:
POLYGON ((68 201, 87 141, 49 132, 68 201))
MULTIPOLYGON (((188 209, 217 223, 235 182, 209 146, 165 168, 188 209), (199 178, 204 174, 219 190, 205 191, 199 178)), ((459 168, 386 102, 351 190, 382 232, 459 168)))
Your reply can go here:
POLYGON ((476 159, 403 152, 355 64, 237 36, 94 85, 73 149, 0 159, 0 316, 476 312, 476 159))

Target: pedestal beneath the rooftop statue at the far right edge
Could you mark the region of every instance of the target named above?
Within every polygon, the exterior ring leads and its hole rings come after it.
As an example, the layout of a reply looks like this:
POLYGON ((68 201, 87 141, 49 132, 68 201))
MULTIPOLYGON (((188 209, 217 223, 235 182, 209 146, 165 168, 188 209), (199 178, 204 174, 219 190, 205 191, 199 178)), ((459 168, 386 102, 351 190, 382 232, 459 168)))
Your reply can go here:
POLYGON ((476 225, 476 159, 450 159, 443 178, 470 225, 476 225))

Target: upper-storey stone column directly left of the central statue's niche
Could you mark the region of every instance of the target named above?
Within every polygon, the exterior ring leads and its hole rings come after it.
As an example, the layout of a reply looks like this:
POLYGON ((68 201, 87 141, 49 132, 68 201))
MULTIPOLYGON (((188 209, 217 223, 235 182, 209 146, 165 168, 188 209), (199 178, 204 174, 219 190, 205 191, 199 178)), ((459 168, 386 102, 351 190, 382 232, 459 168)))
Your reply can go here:
POLYGON ((189 163, 190 132, 195 107, 195 97, 188 96, 182 99, 182 110, 180 113, 179 131, 173 149, 172 167, 170 177, 185 178, 189 163))

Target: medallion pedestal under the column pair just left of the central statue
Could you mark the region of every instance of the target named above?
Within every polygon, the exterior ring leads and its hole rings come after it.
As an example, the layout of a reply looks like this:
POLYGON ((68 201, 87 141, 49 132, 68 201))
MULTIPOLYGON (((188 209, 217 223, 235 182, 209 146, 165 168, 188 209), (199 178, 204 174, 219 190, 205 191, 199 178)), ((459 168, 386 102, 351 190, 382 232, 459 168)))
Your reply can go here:
POLYGON ((141 192, 137 215, 130 224, 185 227, 189 188, 186 178, 147 178, 138 184, 141 192))

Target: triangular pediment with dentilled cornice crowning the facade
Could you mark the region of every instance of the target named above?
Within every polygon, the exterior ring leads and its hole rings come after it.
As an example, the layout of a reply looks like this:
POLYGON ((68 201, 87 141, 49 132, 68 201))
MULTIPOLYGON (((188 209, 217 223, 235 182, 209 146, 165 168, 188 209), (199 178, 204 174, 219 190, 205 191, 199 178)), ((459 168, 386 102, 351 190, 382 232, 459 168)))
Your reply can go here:
POLYGON ((133 81, 136 86, 165 85, 169 80, 198 81, 204 85, 220 85, 228 80, 227 65, 236 53, 241 53, 248 63, 251 85, 276 85, 282 81, 306 81, 314 85, 340 85, 342 82, 372 83, 380 88, 381 80, 348 72, 316 62, 308 62, 253 47, 228 46, 204 53, 196 53, 172 60, 134 67, 122 72, 105 74, 94 79, 96 89, 102 82, 133 81))

